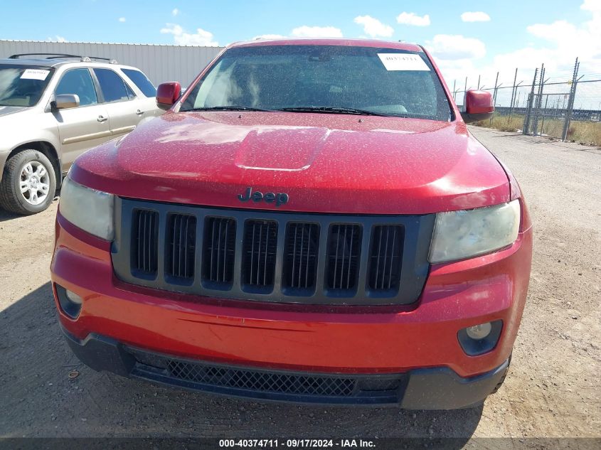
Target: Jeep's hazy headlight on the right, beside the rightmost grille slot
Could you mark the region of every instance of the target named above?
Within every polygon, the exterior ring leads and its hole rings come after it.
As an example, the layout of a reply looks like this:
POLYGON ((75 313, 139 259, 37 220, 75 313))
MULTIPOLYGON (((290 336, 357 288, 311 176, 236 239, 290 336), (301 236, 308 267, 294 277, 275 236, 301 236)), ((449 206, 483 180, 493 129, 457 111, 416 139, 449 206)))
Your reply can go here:
POLYGON ((430 262, 466 259, 511 245, 518 237, 520 203, 436 215, 430 262))

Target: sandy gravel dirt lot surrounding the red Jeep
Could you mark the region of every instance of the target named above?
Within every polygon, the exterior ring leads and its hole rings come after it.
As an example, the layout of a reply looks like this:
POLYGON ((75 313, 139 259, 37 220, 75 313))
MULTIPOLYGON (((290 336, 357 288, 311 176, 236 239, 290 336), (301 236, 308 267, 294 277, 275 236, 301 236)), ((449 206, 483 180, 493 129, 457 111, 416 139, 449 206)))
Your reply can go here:
POLYGON ((601 150, 473 129, 529 200, 535 255, 504 387, 452 412, 257 404, 95 373, 48 283, 56 202, 0 212, 0 436, 601 436, 601 150), (80 371, 70 380, 70 370, 80 371))

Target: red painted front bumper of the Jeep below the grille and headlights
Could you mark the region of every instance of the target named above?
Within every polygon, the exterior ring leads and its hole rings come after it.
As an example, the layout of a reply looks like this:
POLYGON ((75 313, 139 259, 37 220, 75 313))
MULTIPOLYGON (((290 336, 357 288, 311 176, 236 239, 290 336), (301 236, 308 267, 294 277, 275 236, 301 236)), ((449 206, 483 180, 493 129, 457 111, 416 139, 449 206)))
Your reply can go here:
MULTIPOLYGON (((371 308, 265 304, 121 282, 112 269, 110 245, 58 215, 51 277, 55 295, 58 284, 83 298, 75 319, 57 301, 61 326, 71 341, 79 343, 75 348, 98 335, 121 349, 112 355, 137 348, 173 360, 270 373, 392 374, 407 382, 395 402, 403 407, 445 408, 459 405, 452 392, 473 389, 479 397, 496 385, 494 375, 482 390, 471 387, 479 377, 496 374, 511 355, 528 289, 531 240, 527 230, 514 245, 494 254, 432 266, 415 304, 371 308), (479 356, 464 353, 457 332, 496 320, 503 321, 503 329, 495 348, 479 356), (415 383, 438 392, 433 397, 437 402, 424 396, 423 389, 413 389, 415 383), (459 386, 459 391, 445 392, 449 386, 459 386)), ((127 367, 122 375, 174 384, 156 373, 132 372, 134 365, 127 367)), ((468 405, 471 400, 460 403, 468 405)))

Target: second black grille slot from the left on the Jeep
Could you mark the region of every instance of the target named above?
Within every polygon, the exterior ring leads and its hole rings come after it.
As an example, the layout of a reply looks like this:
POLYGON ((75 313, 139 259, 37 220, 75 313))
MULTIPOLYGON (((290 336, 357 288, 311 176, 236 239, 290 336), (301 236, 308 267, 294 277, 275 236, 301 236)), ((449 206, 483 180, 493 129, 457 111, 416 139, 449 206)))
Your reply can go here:
POLYGON ((165 274, 179 279, 193 279, 196 218, 188 214, 170 214, 166 238, 165 274))

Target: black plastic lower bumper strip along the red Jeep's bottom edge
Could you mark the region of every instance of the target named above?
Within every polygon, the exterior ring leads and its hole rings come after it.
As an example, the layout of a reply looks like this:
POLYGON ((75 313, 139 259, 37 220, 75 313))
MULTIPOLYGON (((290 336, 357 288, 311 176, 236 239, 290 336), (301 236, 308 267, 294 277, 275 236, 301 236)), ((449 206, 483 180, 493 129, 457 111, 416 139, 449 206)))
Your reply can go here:
POLYGON ((228 397, 320 405, 400 405, 404 409, 457 409, 482 402, 509 368, 462 378, 448 368, 384 375, 305 373, 206 363, 140 350, 90 334, 80 340, 65 331, 73 353, 94 370, 159 385, 228 397))

